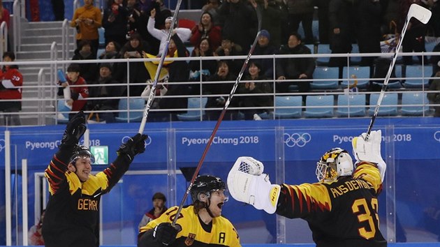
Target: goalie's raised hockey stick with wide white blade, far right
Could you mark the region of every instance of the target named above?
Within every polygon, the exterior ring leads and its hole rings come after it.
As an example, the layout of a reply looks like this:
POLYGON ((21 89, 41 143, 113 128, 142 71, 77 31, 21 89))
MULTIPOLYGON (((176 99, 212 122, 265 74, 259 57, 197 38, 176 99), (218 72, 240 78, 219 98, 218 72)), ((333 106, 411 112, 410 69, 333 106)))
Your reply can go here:
POLYGON ((404 27, 402 29, 402 33, 399 36, 399 40, 397 42, 397 47, 394 51, 393 60, 391 61, 390 67, 388 68, 388 72, 386 73, 386 77, 385 77, 385 81, 383 81, 381 93, 379 94, 379 98, 377 99, 376 108, 374 108, 374 113, 373 113, 372 119, 369 122, 367 135, 365 136, 365 141, 368 140, 369 134, 372 132, 374 121, 376 120, 377 114, 379 113, 379 108, 381 107, 383 96, 385 95, 385 90, 386 90, 386 87, 388 86, 388 81, 390 80, 391 73, 393 72, 393 68, 394 68, 396 60, 397 60, 397 54, 399 54, 400 47, 402 47, 402 40, 405 36, 406 29, 409 24, 409 20, 411 20, 411 17, 414 17, 417 20, 419 20, 420 22, 422 22, 423 24, 427 24, 427 22, 431 18, 431 15, 432 15, 432 13, 430 10, 423 8, 422 6, 417 5, 416 3, 411 4, 411 6, 409 7, 408 14, 406 15, 404 27))

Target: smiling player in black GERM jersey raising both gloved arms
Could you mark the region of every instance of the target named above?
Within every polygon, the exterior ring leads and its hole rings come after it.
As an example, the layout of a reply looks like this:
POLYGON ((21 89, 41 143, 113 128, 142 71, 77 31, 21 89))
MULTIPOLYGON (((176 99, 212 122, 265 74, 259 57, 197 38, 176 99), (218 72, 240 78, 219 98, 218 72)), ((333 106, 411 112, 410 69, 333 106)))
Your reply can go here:
POLYGON ((94 156, 78 144, 87 129, 85 121, 81 111, 67 123, 59 150, 45 170, 50 192, 43 220, 47 247, 97 247, 101 195, 109 193, 135 156, 145 151, 147 135, 138 133, 121 144, 105 170, 91 174, 94 156))

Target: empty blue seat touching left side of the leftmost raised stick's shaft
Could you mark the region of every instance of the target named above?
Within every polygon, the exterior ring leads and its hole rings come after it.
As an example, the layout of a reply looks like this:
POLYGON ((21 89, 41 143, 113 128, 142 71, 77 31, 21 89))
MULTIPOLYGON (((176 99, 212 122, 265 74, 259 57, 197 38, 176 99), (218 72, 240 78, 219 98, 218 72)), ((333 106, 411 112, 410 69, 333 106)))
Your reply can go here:
POLYGON ((115 117, 117 122, 138 122, 142 120, 143 110, 145 108, 145 100, 143 98, 126 98, 119 100, 119 116, 115 117))

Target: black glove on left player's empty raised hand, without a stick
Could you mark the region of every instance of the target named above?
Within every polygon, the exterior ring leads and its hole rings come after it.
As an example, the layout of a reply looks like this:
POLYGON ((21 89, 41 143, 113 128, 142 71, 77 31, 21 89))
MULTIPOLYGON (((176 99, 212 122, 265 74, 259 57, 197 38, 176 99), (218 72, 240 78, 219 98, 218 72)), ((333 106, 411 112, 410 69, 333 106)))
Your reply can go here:
POLYGON ((59 147, 71 147, 74 144, 78 144, 78 140, 84 135, 85 130, 87 130, 85 115, 84 112, 80 111, 68 121, 59 147))

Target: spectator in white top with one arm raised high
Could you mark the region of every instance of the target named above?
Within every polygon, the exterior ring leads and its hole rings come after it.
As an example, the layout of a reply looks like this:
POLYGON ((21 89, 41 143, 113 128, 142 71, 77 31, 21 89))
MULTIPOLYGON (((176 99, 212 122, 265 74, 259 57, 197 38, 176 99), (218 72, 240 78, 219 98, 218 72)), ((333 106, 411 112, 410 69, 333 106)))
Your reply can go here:
MULTIPOLYGON (((161 45, 159 47, 159 54, 158 54, 159 56, 161 56, 163 49, 165 49, 166 38, 168 36, 168 33, 170 32, 171 24, 173 22, 173 17, 166 18, 165 29, 161 29, 161 30, 156 29, 154 27, 155 17, 156 17, 156 9, 152 9, 148 19, 147 30, 154 38, 161 40, 161 45)), ((189 37, 191 37, 190 29, 177 27, 173 29, 173 32, 177 33, 177 35, 179 36, 180 40, 182 40, 183 43, 188 41, 189 37)))

